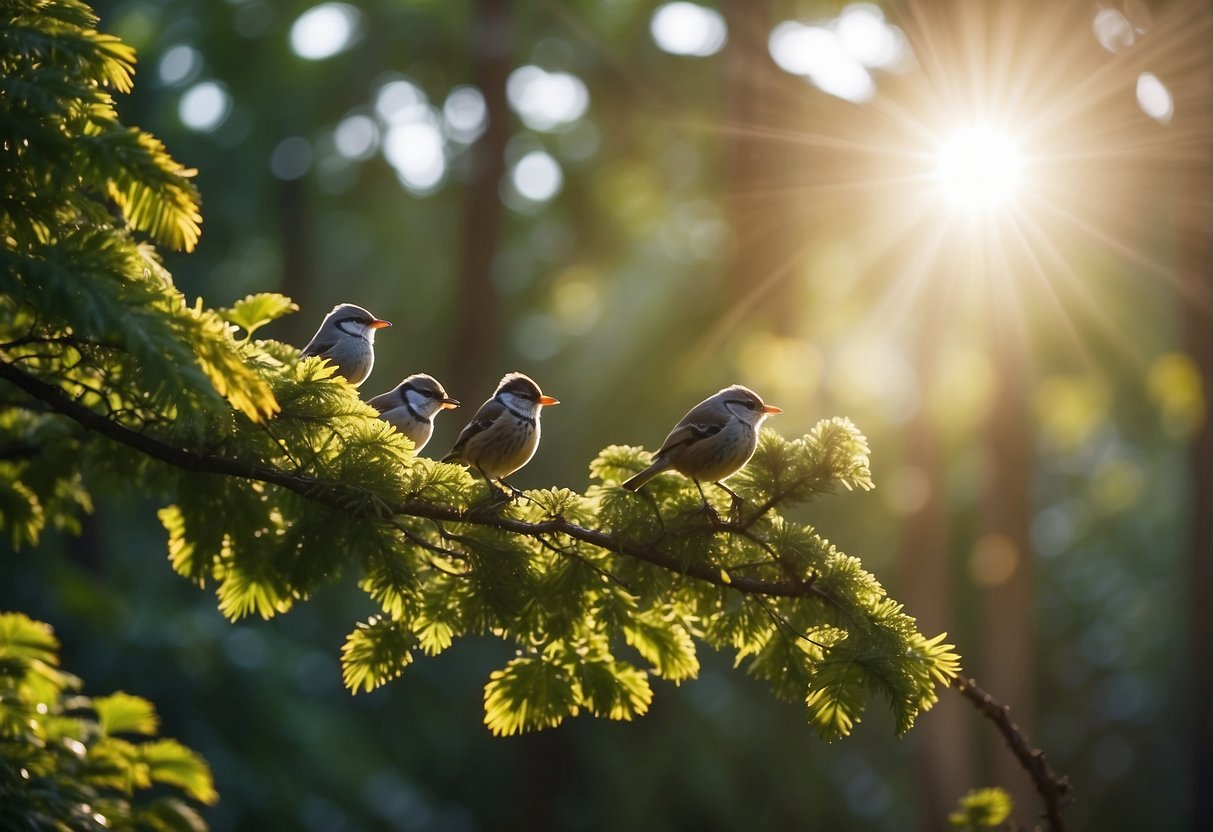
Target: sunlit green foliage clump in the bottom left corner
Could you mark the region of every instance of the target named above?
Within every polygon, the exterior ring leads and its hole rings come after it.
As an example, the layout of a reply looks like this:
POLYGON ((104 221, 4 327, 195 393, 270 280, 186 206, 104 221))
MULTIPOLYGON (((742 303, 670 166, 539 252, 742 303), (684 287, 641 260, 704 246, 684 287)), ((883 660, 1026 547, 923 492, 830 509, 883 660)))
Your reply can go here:
POLYGON ((147 700, 80 686, 50 626, 0 612, 0 828, 205 830, 188 802, 218 799, 203 758, 153 739, 147 700))

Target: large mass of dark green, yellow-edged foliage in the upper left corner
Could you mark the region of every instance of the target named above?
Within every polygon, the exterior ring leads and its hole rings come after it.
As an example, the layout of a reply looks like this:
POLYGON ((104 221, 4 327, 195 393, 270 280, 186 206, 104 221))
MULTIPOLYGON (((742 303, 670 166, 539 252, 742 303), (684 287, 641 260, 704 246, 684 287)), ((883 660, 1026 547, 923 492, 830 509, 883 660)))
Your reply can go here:
MULTIPOLYGON (((277 403, 228 325, 188 304, 139 240, 192 250, 198 193, 193 171, 118 120, 113 92, 130 90, 135 53, 95 24, 86 6, 68 0, 15 0, 0 12, 6 360, 135 429, 177 420, 199 432, 207 414, 229 418, 230 408, 262 420, 277 403)), ((29 492, 24 537, 34 540, 46 492, 24 474, 5 479, 29 492)))

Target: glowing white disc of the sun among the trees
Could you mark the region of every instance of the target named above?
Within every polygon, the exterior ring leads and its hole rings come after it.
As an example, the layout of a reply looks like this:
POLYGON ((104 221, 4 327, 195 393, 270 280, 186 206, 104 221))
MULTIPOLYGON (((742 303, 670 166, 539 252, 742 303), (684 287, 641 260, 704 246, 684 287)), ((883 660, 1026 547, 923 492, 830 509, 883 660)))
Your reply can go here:
POLYGON ((939 147, 935 178, 953 207, 980 212, 1008 205, 1021 183, 1015 139, 991 125, 957 130, 939 147))

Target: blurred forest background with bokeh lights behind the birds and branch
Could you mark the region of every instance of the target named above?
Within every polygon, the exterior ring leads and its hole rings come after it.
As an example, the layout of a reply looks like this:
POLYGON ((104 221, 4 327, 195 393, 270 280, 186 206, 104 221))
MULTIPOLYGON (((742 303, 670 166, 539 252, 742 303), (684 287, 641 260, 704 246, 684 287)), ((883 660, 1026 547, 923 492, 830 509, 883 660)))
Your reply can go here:
MULTIPOLYGON (((392 320, 366 395, 428 371, 467 405, 432 456, 530 374, 563 404, 523 488, 583 489, 602 446, 655 448, 731 382, 785 435, 852 417, 877 490, 808 519, 950 632, 1071 776, 1074 828, 1194 821, 1208 4, 96 7, 138 50, 124 121, 199 170, 201 244, 167 261, 188 296, 285 292, 302 312, 267 334, 296 344, 337 302, 392 320), (936 193, 973 121, 1023 153, 997 211, 936 193)), ((215 830, 930 828, 996 783, 1038 805, 947 691, 906 740, 873 712, 827 746, 705 655, 636 723, 497 740, 485 639, 352 697, 352 577, 229 625, 155 507, 110 495, 81 537, 6 553, 0 608, 52 622, 91 693, 156 702, 215 769, 215 830)))

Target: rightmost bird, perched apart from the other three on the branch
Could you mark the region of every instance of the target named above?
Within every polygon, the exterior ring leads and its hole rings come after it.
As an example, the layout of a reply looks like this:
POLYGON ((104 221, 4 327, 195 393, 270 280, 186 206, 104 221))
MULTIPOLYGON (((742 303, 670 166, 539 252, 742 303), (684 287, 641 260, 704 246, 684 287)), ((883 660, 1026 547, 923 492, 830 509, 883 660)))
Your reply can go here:
POLYGON ((691 408, 653 455, 653 465, 622 485, 637 491, 672 468, 695 483, 710 514, 716 512, 708 505, 701 483, 714 483, 724 489, 733 497, 736 512, 741 497, 722 480, 741 471, 753 456, 763 420, 781 412, 781 409, 764 404, 748 387, 725 387, 691 408))

